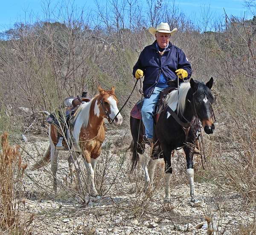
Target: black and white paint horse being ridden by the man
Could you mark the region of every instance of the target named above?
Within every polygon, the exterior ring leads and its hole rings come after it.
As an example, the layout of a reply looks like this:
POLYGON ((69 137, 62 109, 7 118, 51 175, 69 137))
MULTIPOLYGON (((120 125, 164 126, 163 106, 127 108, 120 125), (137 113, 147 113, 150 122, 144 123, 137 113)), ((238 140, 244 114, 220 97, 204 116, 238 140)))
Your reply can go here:
MULTIPOLYGON (((171 153, 173 150, 182 147, 186 155, 187 170, 189 178, 191 201, 195 202, 193 155, 198 131, 198 119, 201 121, 204 131, 212 134, 214 131, 212 117, 212 103, 214 98, 211 93, 213 78, 206 83, 191 79, 189 83, 181 83, 179 91, 174 90, 166 96, 168 107, 160 114, 156 123, 155 138, 160 141, 163 151, 166 172, 166 199, 170 198, 170 181, 172 177, 171 153), (187 132, 183 130, 175 119, 177 114, 180 123, 189 125, 187 132)), ((143 140, 143 124, 140 120, 130 117, 131 134, 133 137, 133 166, 140 160, 145 173, 145 187, 152 184, 154 180, 154 167, 157 159, 150 159, 147 168, 147 157, 145 156, 145 141, 143 140), (140 130, 139 130, 140 125, 140 130), (140 133, 139 133, 140 132, 140 133)))

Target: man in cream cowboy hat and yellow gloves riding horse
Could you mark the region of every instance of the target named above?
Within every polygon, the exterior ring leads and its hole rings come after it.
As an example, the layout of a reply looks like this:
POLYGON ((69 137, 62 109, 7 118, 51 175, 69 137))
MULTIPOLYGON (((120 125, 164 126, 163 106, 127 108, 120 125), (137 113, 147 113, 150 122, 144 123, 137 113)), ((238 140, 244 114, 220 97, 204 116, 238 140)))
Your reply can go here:
MULTIPOLYGON (((191 64, 184 52, 169 42, 170 36, 177 28, 170 31, 168 23, 160 23, 157 28, 150 27, 148 31, 156 37, 153 44, 146 46, 133 68, 133 75, 140 79, 144 75, 144 101, 141 109, 145 126, 145 138, 153 143, 154 110, 159 100, 160 92, 167 87, 177 87, 177 76, 180 82, 189 79, 192 74, 191 64)), ((157 158, 158 145, 154 145, 152 155, 157 158)))

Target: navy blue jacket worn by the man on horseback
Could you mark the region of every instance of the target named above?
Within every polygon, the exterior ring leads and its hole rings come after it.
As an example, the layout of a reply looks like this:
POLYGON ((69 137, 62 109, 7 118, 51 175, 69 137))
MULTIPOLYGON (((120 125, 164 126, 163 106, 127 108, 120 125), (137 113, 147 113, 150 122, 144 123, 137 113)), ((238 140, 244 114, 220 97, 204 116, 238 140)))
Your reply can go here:
POLYGON ((167 81, 177 80, 175 73, 177 69, 185 69, 188 72, 188 77, 185 79, 189 79, 192 74, 191 64, 181 49, 169 43, 163 56, 160 56, 156 48, 156 41, 146 46, 140 53, 140 57, 133 68, 134 77, 137 69, 141 69, 144 74, 143 93, 145 98, 150 97, 157 86, 160 73, 167 81))

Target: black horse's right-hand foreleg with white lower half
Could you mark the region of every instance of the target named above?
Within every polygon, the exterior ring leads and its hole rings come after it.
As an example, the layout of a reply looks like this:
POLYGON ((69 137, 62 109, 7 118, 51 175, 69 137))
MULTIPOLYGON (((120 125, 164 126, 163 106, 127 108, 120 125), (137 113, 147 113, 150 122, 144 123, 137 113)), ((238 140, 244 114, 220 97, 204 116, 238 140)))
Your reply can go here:
POLYGON ((192 149, 189 146, 186 146, 183 149, 186 154, 186 163, 187 163, 186 174, 189 179, 191 201, 198 202, 198 200, 195 197, 195 185, 194 185, 194 169, 193 169, 194 149, 192 149))

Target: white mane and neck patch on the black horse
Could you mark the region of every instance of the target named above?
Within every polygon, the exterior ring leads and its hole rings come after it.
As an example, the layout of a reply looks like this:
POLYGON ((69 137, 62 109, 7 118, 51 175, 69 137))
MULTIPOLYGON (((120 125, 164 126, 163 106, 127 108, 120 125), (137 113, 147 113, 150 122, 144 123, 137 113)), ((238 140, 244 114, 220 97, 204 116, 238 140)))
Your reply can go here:
POLYGON ((183 113, 186 104, 186 95, 190 89, 190 83, 181 83, 178 91, 174 90, 166 96, 167 105, 175 111, 177 109, 178 113, 183 113), (178 97, 177 97, 178 96, 178 97))

